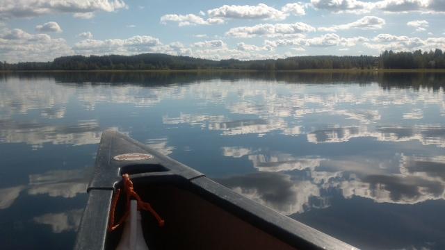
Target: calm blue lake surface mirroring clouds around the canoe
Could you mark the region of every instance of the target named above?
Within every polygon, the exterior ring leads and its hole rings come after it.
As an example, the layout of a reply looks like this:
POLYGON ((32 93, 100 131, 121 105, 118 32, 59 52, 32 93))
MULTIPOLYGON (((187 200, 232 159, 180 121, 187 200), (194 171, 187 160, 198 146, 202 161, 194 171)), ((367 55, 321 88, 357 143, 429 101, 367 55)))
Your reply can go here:
POLYGON ((362 249, 445 249, 444 74, 0 75, 1 249, 70 249, 115 128, 362 249))

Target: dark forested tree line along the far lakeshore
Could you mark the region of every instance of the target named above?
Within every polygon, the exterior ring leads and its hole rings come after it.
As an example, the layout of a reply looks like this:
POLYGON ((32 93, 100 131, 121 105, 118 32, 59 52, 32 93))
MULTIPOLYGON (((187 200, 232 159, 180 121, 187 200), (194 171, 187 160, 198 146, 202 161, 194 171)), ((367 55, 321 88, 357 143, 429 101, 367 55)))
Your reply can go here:
POLYGON ((135 56, 63 56, 47 63, 0 62, 0 70, 140 70, 140 69, 445 69, 445 54, 435 51, 385 51, 380 56, 296 56, 267 60, 207 60, 143 53, 135 56))

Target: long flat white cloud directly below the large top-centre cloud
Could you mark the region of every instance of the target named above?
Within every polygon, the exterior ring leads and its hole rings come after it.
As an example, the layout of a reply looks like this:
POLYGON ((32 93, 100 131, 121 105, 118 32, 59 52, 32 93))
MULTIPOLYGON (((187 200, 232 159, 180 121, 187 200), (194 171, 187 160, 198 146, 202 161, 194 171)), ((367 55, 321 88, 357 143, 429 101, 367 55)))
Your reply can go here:
POLYGON ((254 36, 294 35, 313 32, 316 29, 309 24, 296 22, 294 24, 257 24, 255 26, 241 26, 230 28, 227 36, 236 38, 251 38, 254 36))

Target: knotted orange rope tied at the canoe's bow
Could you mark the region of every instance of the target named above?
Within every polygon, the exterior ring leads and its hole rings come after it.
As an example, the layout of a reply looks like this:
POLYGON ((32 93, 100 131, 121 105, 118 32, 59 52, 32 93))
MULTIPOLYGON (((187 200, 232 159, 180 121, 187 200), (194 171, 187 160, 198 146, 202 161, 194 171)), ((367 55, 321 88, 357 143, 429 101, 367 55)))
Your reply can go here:
POLYGON ((147 210, 156 218, 158 221, 159 226, 164 226, 164 220, 161 219, 161 217, 156 213, 156 211, 152 208, 152 206, 148 203, 140 199, 139 195, 134 191, 133 188, 133 182, 130 181, 130 177, 128 174, 122 175, 122 181, 124 181, 124 191, 127 194, 127 208, 125 210, 124 216, 120 218, 119 222, 117 224, 114 224, 115 220, 115 210, 116 206, 118 205, 118 200, 120 197, 120 189, 118 189, 113 197, 113 202, 111 203, 111 210, 110 210, 110 222, 108 224, 108 231, 113 231, 116 228, 118 228, 124 221, 127 219, 130 213, 130 199, 133 197, 138 201, 138 210, 147 210))

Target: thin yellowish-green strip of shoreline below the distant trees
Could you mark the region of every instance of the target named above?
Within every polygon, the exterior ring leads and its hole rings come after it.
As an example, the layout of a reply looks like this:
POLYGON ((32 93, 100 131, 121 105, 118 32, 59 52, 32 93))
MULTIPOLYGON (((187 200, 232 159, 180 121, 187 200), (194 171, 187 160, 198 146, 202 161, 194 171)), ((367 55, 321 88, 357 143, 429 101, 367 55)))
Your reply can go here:
POLYGON ((93 73, 200 73, 200 72, 289 72, 289 73, 445 73, 445 69, 289 69, 289 70, 255 70, 255 69, 44 69, 44 70, 0 70, 0 73, 69 73, 69 72, 93 72, 93 73))

